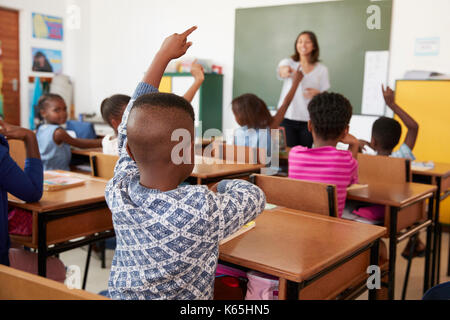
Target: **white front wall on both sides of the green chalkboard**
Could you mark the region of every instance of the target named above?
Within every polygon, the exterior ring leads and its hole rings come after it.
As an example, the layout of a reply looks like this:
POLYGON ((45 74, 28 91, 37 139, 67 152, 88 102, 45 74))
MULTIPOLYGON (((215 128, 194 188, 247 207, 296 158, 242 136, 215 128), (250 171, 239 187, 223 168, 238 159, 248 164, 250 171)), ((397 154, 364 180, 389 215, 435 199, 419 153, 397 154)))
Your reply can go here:
MULTIPOLYGON (((188 55, 210 58, 223 66, 223 128, 235 128, 237 124, 230 109, 235 9, 301 2, 312 1, 92 1, 90 51, 91 86, 95 88, 92 92, 93 104, 99 105, 105 96, 112 93, 131 92, 164 37, 196 24, 199 29, 191 37, 194 45, 188 55)), ((391 85, 408 69, 450 73, 450 60, 446 58, 450 56, 449 6, 448 0, 394 0, 389 73, 391 85), (441 37, 439 56, 414 56, 415 38, 435 36, 441 37)))

